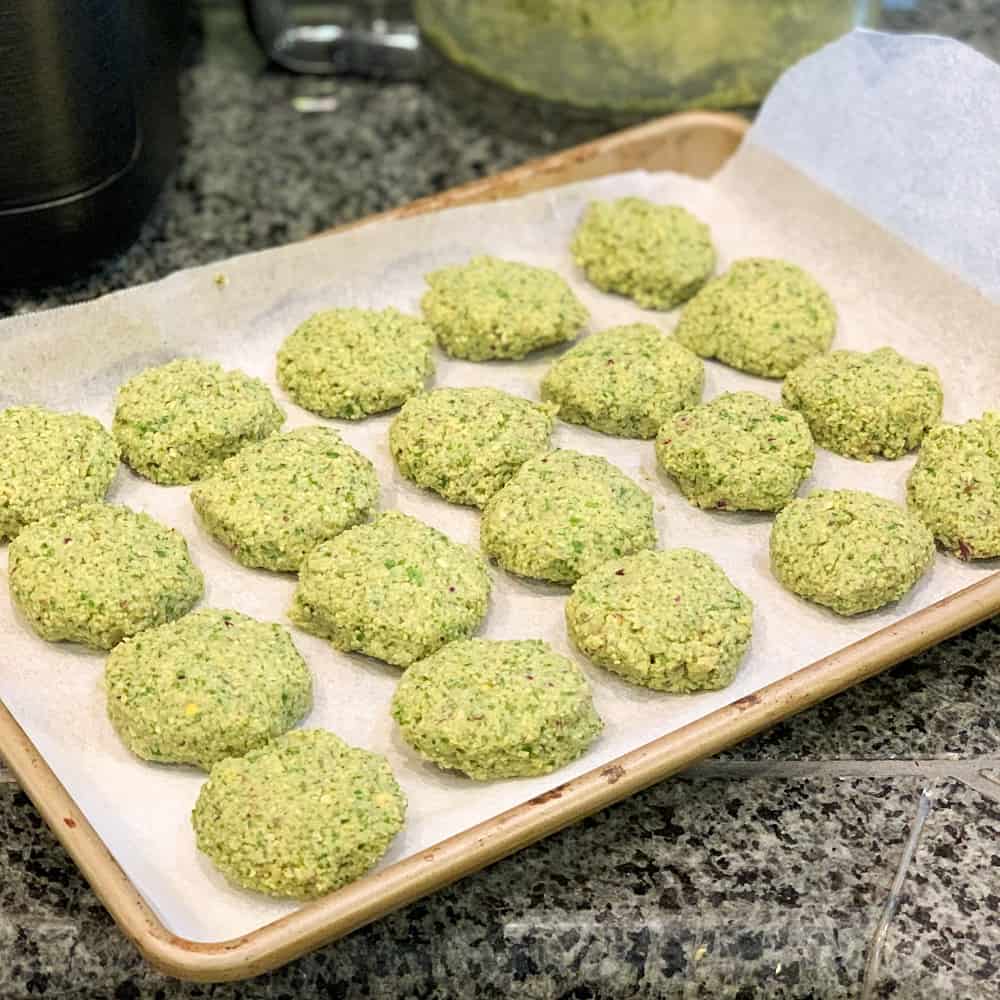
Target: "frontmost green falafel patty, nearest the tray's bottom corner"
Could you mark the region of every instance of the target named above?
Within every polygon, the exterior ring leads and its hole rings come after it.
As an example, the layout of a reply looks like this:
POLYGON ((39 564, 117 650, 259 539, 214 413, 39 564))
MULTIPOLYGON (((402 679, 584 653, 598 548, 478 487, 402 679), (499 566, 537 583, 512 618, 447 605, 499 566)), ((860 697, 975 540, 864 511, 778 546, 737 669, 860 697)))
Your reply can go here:
POLYGON ((309 729, 219 761, 191 823, 198 850, 231 882, 313 899, 364 875, 405 814, 384 757, 309 729))

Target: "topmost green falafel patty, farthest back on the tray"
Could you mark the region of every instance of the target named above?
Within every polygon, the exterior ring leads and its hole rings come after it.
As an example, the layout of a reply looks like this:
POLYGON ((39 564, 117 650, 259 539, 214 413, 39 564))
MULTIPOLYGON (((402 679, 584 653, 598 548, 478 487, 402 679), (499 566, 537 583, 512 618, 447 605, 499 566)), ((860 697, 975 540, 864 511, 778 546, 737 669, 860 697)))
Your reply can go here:
POLYGON ((592 201, 573 234, 573 260, 603 292, 644 309, 673 309, 712 276, 712 232, 679 205, 592 201))

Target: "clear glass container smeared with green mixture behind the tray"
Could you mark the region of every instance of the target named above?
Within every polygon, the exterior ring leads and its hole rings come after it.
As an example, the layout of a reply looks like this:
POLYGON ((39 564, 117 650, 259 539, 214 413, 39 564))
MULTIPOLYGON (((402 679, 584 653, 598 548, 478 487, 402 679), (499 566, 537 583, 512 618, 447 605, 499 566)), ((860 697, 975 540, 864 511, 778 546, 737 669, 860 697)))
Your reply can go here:
POLYGON ((759 104, 877 0, 414 0, 449 59, 534 97, 634 113, 759 104))

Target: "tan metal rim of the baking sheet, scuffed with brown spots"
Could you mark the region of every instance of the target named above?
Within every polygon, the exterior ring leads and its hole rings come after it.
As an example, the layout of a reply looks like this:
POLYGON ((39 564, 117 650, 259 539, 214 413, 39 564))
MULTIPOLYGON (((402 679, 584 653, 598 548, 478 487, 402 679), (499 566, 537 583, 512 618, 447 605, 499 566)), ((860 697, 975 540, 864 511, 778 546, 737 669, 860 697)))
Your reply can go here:
MULTIPOLYGON (((422 199, 379 218, 512 197, 637 167, 704 176, 732 153, 745 128, 745 123, 732 115, 677 115, 526 164, 497 178, 422 199)), ((119 927, 146 959, 182 979, 242 979, 283 965, 478 871, 998 612, 1000 573, 995 573, 726 708, 229 941, 193 942, 163 926, 2 703, 0 753, 119 927)))

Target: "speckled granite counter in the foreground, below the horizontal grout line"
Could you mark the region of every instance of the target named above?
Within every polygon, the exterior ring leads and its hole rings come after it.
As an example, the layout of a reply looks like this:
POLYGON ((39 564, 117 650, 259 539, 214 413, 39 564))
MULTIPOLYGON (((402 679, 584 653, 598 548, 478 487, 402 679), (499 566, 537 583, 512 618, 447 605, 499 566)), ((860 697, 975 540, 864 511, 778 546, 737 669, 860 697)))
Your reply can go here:
MULTIPOLYGON (((997 995, 1000 803, 947 778, 667 782, 278 972, 165 980, 0 786, 0 996, 854 998, 921 790, 876 997, 997 995)), ((1000 786, 998 786, 1000 790, 1000 786)))

